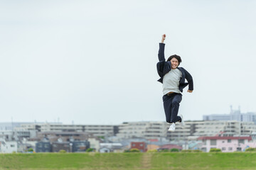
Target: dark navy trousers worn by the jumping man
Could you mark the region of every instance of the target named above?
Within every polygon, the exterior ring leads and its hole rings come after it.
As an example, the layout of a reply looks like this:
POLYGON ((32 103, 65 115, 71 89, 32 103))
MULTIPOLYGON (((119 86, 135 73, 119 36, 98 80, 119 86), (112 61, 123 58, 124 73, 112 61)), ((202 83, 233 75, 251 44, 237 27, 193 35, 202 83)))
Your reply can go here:
POLYGON ((164 95, 164 112, 166 114, 166 122, 168 123, 176 123, 181 121, 181 117, 178 116, 178 108, 179 103, 181 103, 182 94, 171 94, 171 95, 164 95))

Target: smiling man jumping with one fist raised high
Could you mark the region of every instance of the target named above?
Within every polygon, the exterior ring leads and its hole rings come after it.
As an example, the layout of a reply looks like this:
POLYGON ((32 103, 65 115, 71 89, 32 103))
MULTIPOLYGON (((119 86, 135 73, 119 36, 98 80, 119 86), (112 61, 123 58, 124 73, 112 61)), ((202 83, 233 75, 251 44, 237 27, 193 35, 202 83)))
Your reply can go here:
POLYGON ((185 125, 183 116, 178 116, 179 103, 182 100, 182 91, 188 85, 188 92, 193 91, 193 79, 181 64, 181 57, 171 55, 167 61, 164 58, 164 40, 166 35, 162 35, 161 43, 159 43, 159 62, 156 64, 157 72, 161 77, 158 81, 163 84, 163 102, 166 122, 171 123, 169 131, 174 132, 175 123, 181 123, 181 127, 185 125), (188 83, 185 82, 185 79, 188 83))

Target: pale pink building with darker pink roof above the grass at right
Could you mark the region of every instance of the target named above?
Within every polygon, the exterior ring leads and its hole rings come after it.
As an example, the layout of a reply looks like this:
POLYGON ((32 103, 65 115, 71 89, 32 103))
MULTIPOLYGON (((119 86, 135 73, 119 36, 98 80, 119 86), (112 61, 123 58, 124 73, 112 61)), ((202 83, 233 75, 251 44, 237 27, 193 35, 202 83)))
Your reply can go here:
POLYGON ((198 137, 198 140, 203 142, 201 150, 209 152, 211 148, 221 149, 222 152, 245 151, 247 147, 256 147, 256 142, 252 141, 250 136, 213 136, 213 137, 198 137))

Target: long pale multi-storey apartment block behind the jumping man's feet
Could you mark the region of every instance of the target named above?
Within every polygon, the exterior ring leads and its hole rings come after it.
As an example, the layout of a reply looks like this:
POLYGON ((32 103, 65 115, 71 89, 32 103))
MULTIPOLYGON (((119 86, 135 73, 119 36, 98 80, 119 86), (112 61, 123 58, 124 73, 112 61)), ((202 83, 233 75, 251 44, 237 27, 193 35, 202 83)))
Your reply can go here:
POLYGON ((143 137, 147 140, 165 137, 170 141, 184 141, 200 136, 253 135, 256 125, 252 122, 230 121, 186 121, 184 128, 176 123, 176 130, 169 132, 169 123, 165 122, 130 122, 119 126, 117 137, 143 137))

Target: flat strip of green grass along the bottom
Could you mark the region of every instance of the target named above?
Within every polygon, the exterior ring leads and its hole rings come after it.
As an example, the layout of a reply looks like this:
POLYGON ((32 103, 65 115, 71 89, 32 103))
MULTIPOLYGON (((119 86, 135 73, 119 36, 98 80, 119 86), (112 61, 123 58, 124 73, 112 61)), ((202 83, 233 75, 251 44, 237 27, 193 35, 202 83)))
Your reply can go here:
POLYGON ((256 153, 0 154, 0 170, 4 169, 256 169, 256 153))

